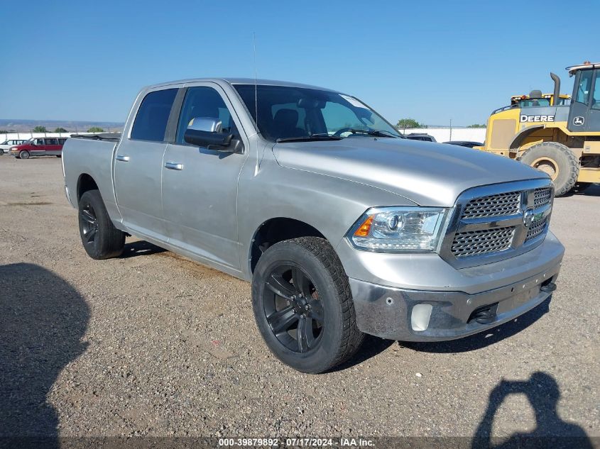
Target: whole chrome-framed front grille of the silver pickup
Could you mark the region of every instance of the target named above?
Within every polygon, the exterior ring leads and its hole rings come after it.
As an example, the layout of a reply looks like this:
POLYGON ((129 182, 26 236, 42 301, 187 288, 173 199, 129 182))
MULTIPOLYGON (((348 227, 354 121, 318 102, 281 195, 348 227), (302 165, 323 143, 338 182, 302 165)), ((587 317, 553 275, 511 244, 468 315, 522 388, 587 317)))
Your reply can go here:
POLYGON ((440 255, 469 267, 481 257, 493 262, 535 248, 547 233, 553 198, 545 179, 467 190, 457 200, 440 255))

